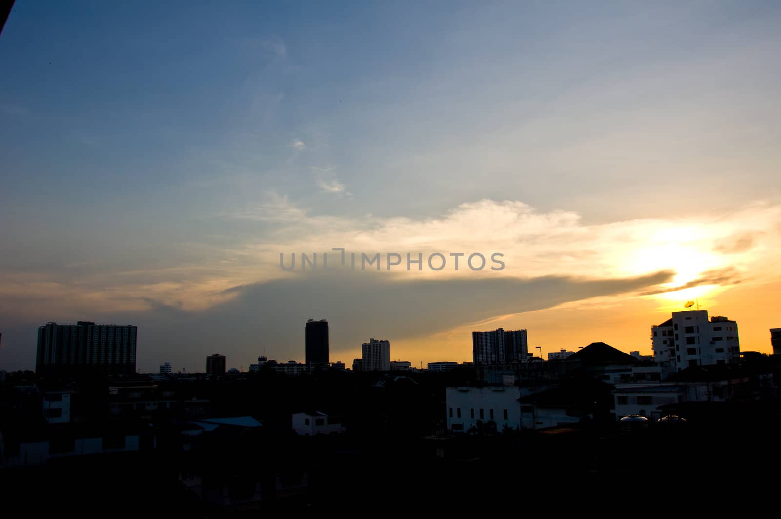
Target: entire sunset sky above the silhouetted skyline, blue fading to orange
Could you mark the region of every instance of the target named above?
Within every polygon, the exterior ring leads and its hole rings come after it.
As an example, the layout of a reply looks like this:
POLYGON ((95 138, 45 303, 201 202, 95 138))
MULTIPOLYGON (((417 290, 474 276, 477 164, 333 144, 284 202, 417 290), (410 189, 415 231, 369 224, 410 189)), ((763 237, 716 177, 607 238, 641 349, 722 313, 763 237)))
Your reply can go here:
POLYGON ((303 361, 310 318, 348 365, 369 338, 471 360, 500 326, 648 354, 689 300, 769 353, 779 27, 753 1, 17 0, 0 369, 76 320, 137 325, 143 372, 303 361))

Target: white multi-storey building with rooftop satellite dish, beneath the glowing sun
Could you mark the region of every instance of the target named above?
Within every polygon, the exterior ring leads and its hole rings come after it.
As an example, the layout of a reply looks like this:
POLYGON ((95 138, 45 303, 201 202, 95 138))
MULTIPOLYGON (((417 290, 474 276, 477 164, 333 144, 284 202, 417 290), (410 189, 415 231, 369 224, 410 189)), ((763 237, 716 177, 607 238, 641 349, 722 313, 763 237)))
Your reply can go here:
POLYGON ((673 312, 658 326, 651 326, 654 360, 680 371, 708 364, 740 361, 737 323, 726 317, 711 317, 708 310, 673 312))

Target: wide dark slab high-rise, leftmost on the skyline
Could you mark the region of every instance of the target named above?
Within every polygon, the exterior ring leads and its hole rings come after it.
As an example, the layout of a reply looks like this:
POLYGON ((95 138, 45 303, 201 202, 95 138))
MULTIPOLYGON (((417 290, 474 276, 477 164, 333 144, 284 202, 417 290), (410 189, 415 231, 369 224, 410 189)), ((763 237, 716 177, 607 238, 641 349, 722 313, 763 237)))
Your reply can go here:
POLYGON ((35 356, 37 374, 102 374, 136 372, 136 334, 132 325, 48 323, 38 328, 35 356))

